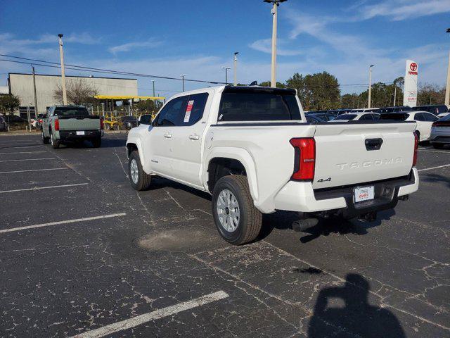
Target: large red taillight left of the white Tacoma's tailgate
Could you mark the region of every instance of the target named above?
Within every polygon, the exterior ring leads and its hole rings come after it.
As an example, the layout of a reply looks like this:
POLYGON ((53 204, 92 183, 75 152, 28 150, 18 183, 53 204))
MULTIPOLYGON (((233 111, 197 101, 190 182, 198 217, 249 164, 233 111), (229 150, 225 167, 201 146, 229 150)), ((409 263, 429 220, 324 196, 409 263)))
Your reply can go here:
POLYGON ((312 137, 290 139, 295 149, 292 180, 313 180, 316 167, 316 142, 312 137))

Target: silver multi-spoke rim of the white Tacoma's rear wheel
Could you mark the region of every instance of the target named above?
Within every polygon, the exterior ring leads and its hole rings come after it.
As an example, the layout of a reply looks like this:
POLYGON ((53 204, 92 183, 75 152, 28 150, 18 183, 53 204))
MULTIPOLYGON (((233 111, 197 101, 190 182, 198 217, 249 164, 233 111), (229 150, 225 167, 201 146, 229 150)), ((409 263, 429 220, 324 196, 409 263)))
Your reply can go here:
POLYGON ((236 196, 224 189, 217 198, 217 215, 220 225, 228 232, 234 232, 239 226, 240 209, 236 196))

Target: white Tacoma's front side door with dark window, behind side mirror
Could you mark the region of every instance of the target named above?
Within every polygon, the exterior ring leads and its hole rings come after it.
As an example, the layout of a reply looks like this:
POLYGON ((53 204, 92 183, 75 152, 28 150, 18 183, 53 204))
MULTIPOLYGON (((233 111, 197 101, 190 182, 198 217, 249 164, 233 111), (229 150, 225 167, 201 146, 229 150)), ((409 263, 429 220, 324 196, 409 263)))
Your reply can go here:
POLYGON ((148 128, 150 134, 146 137, 144 151, 149 158, 147 168, 154 173, 172 177, 172 137, 187 99, 188 96, 181 96, 167 102, 153 121, 153 127, 148 128))

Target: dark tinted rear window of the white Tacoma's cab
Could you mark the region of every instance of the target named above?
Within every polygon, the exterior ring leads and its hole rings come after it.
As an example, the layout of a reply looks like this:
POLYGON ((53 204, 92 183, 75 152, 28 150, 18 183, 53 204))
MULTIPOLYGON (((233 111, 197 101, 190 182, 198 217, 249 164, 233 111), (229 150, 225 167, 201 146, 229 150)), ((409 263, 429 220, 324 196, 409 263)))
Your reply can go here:
POLYGON ((282 91, 236 90, 221 96, 217 120, 280 121, 302 120, 295 94, 282 91))

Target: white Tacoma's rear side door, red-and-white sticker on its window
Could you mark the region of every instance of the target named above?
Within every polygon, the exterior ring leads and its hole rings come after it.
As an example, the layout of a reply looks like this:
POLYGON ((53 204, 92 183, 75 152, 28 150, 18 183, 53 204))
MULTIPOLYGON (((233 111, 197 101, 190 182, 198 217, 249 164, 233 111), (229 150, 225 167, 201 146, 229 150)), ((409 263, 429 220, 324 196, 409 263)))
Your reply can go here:
POLYGON ((212 93, 191 94, 181 111, 177 126, 172 132, 173 177, 176 180, 202 187, 200 165, 203 132, 206 127, 212 93), (207 104, 209 103, 209 104, 207 104))

